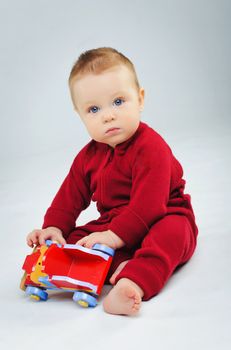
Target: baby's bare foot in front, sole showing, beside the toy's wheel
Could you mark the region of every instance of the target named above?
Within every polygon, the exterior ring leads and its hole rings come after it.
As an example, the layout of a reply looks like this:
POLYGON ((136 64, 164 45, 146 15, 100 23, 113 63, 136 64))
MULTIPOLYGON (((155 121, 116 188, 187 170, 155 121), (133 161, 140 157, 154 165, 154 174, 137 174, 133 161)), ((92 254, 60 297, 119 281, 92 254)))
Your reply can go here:
POLYGON ((133 281, 121 278, 103 301, 104 311, 115 315, 135 315, 144 292, 133 281))

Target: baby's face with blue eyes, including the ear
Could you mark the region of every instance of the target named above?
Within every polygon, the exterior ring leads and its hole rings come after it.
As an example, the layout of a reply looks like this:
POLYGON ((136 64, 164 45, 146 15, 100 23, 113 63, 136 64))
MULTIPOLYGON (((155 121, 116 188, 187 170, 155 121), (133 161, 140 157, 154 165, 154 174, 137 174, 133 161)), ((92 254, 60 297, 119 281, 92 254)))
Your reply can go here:
POLYGON ((129 139, 139 126, 144 89, 123 65, 87 74, 71 86, 72 100, 89 135, 111 147, 129 139), (115 128, 109 131, 109 129, 115 128))

